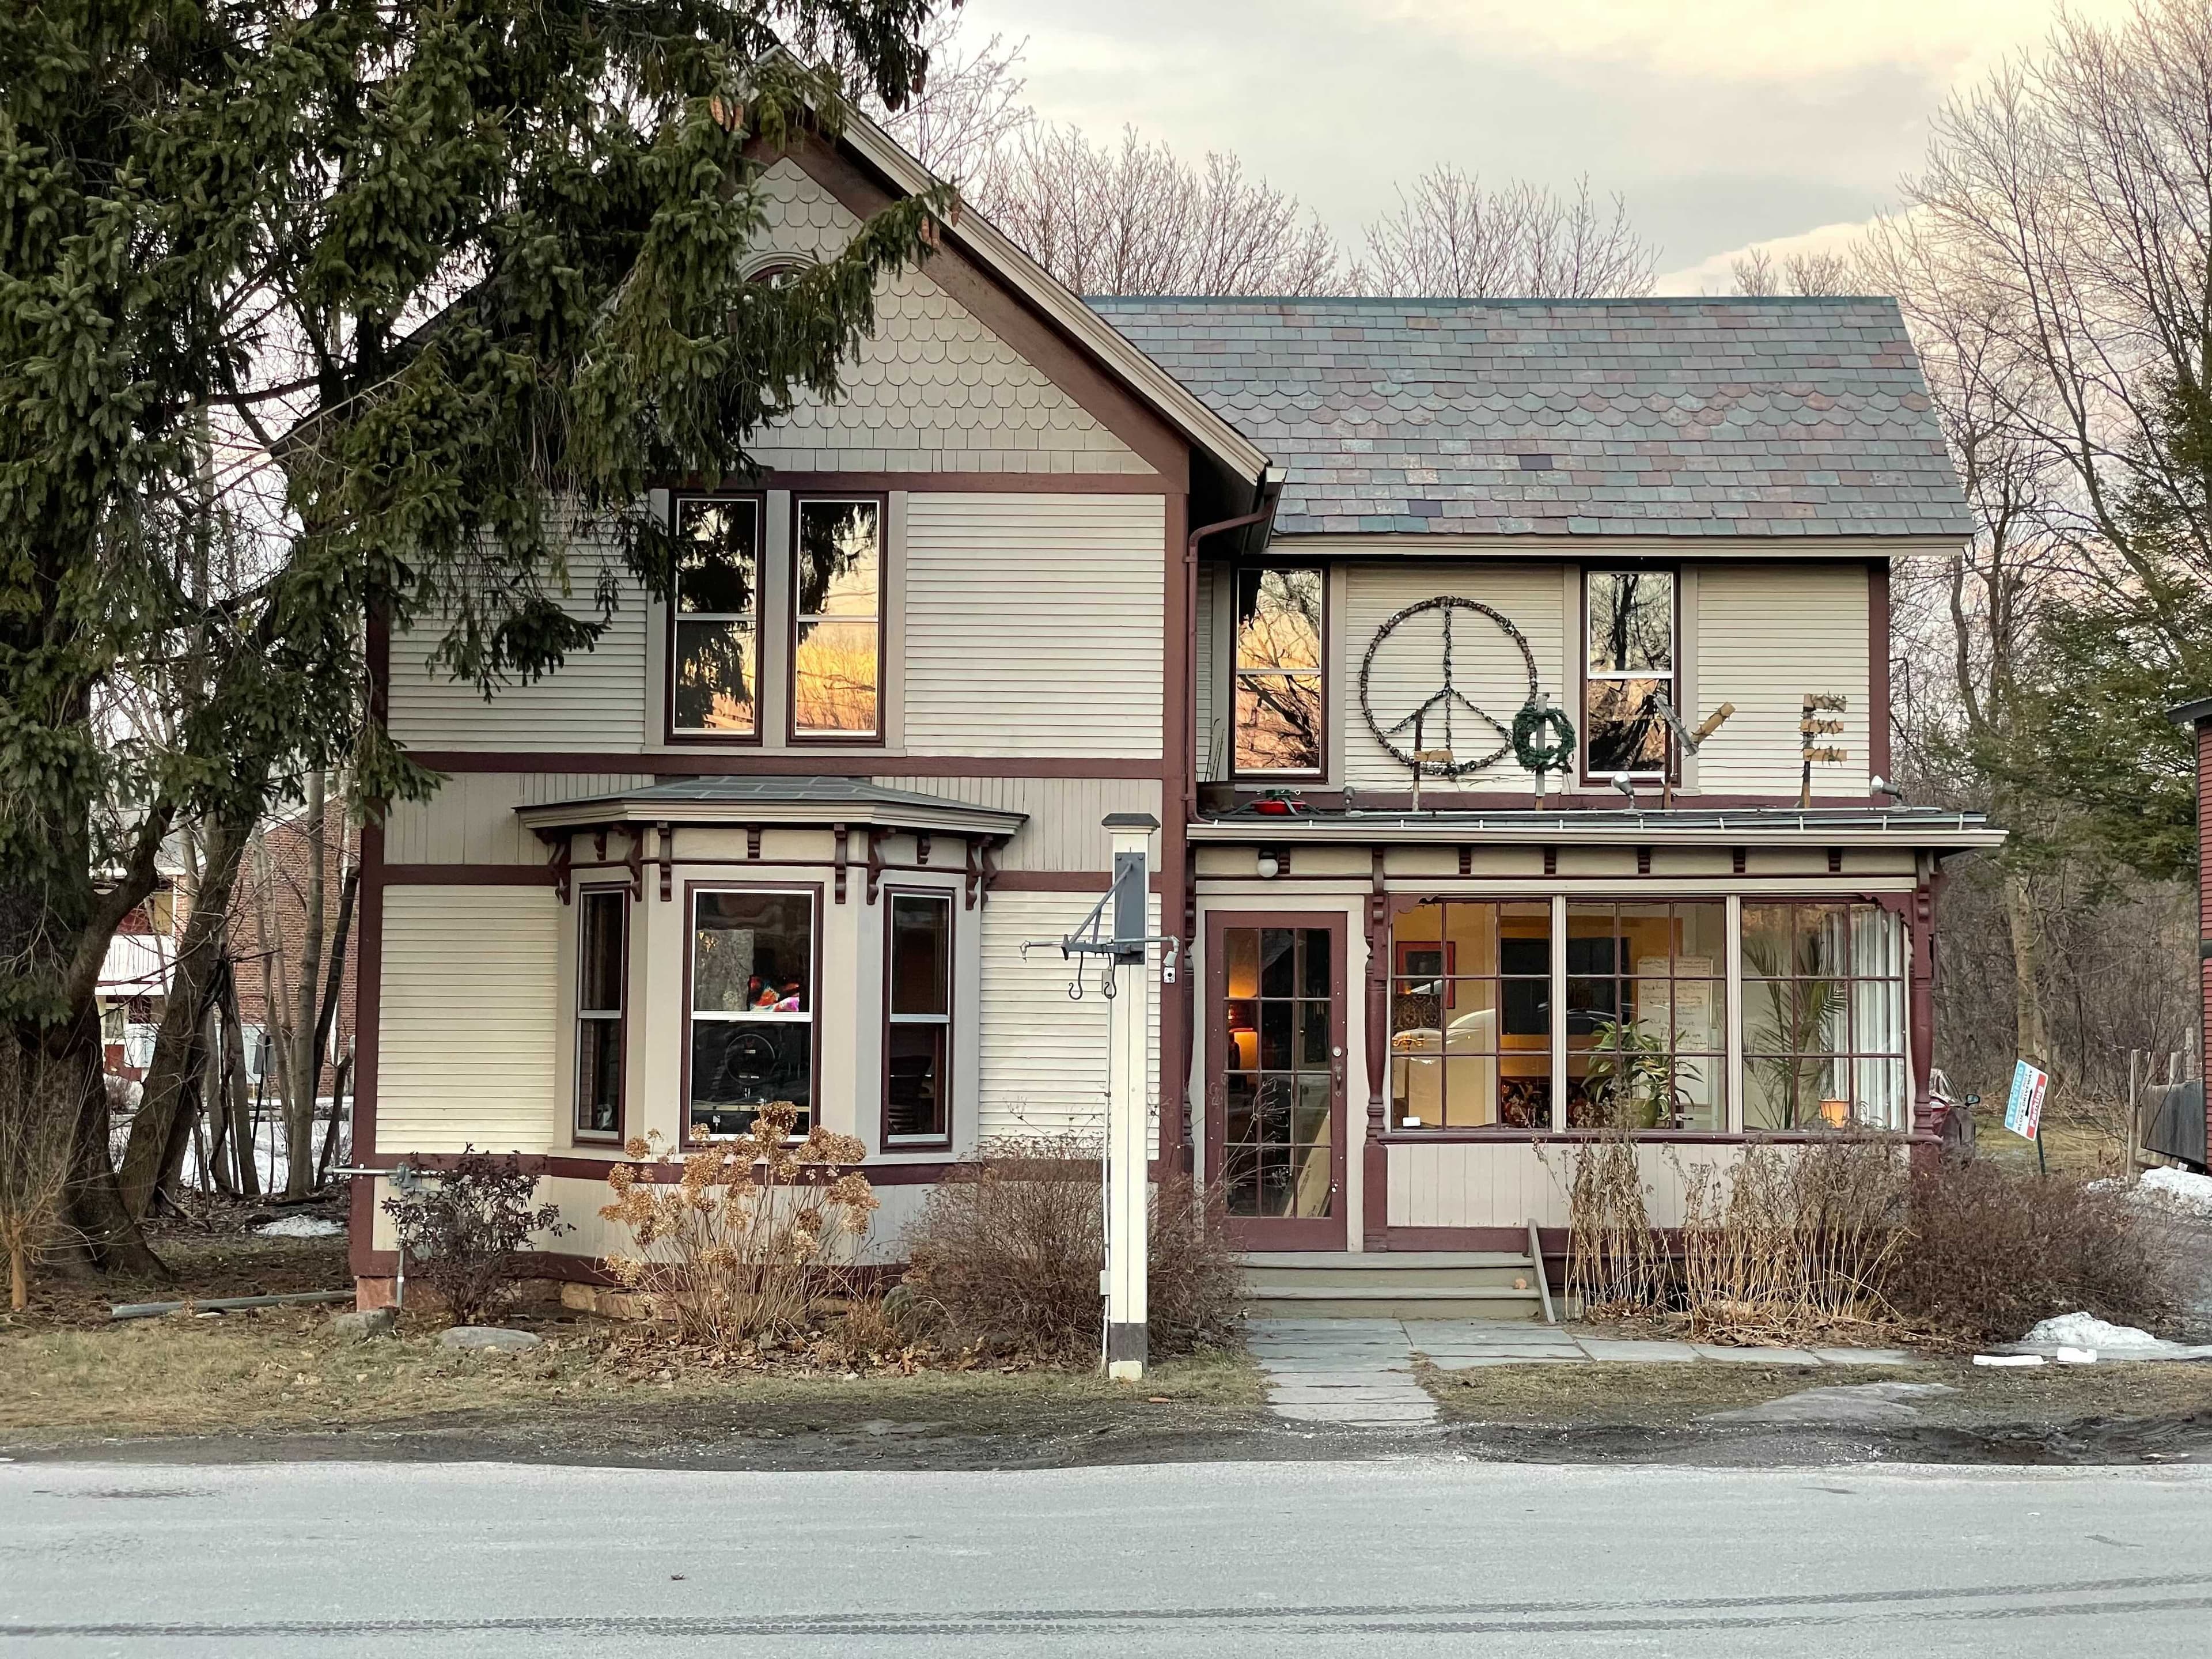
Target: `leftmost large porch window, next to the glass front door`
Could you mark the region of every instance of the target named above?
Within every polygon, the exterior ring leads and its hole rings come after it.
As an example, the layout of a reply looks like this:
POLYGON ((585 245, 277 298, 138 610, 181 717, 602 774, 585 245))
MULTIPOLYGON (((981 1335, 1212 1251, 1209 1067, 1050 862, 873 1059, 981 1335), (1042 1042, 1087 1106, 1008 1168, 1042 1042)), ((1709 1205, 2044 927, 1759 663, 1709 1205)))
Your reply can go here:
POLYGON ((1548 1128, 1551 905, 1431 898, 1391 958, 1391 1128, 1548 1128))

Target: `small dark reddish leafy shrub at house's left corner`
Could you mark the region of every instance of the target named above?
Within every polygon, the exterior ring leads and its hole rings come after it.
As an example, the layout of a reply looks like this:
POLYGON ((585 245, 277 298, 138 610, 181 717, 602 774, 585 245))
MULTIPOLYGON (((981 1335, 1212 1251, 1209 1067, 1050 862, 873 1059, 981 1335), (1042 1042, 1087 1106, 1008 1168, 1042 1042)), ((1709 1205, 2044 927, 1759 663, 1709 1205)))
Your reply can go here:
POLYGON ((535 1210, 538 1177, 522 1159, 465 1146, 436 1181, 385 1199, 407 1250, 407 1272, 453 1314, 456 1325, 495 1316, 524 1279, 533 1232, 573 1232, 557 1203, 535 1210))

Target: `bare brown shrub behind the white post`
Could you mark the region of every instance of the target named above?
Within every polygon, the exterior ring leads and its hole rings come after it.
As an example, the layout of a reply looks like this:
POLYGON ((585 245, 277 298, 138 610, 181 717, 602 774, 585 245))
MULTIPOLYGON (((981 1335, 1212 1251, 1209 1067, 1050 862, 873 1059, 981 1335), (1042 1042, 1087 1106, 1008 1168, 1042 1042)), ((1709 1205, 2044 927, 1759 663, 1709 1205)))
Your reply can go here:
MULTIPOLYGON (((1106 1261, 1097 1146, 1004 1139, 938 1181, 907 1230, 907 1285, 978 1349, 1037 1360, 1099 1352, 1106 1261)), ((1237 1254, 1219 1197, 1188 1175, 1152 1190, 1146 1287, 1150 1347, 1188 1352, 1228 1336, 1237 1254)))

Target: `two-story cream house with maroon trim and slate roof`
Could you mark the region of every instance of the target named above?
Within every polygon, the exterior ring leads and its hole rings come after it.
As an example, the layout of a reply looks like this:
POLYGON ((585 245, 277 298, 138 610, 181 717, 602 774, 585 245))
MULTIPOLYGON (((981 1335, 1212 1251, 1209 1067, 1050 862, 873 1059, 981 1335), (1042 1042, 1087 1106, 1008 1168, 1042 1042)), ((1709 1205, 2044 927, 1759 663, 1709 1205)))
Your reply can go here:
MULTIPOLYGON (((763 270, 927 181, 860 122, 765 179, 763 270)), ((542 1157, 549 1272, 626 1135, 794 1099, 896 1259, 978 1141, 1095 1130, 1106 1006, 1022 945, 1128 812, 1159 1157, 1252 1250, 1562 1228, 1542 1148, 1624 1099, 1661 1223, 1670 1148, 1924 1128, 1997 832, 1878 783, 1891 562, 1966 535, 1891 303, 1084 303, 964 215, 752 453, 542 684, 372 639, 451 781, 365 836, 356 1159, 542 1157)))

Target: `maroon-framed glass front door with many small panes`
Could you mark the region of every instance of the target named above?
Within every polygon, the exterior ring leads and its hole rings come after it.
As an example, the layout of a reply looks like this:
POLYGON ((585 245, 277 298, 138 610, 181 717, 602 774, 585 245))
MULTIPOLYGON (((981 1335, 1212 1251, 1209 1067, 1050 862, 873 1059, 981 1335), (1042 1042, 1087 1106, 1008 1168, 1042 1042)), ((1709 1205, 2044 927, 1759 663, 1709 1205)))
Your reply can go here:
POLYGON ((1250 1250, 1345 1248, 1345 922, 1214 916, 1208 1168, 1250 1250))

